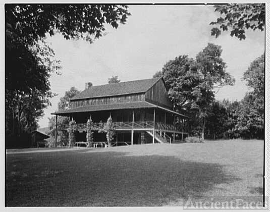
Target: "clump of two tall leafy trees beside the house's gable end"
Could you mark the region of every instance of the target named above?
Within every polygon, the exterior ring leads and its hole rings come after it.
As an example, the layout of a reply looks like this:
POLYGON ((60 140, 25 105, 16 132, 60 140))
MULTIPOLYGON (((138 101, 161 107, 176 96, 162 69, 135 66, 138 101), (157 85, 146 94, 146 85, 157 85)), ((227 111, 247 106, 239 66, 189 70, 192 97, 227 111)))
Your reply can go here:
POLYGON ((165 64, 162 75, 169 88, 169 97, 175 110, 190 117, 190 134, 204 139, 207 109, 214 100, 214 88, 233 85, 234 78, 226 72, 226 64, 221 58, 221 46, 208 43, 196 57, 179 56, 165 64))

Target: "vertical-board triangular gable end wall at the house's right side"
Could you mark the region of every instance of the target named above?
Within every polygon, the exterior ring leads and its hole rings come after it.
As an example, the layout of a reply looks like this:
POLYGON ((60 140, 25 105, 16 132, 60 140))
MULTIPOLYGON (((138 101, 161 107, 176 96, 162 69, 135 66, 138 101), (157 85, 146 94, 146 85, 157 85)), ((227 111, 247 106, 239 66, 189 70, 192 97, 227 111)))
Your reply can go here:
POLYGON ((161 107, 172 109, 173 104, 168 97, 168 91, 162 79, 158 80, 146 93, 145 100, 161 107))

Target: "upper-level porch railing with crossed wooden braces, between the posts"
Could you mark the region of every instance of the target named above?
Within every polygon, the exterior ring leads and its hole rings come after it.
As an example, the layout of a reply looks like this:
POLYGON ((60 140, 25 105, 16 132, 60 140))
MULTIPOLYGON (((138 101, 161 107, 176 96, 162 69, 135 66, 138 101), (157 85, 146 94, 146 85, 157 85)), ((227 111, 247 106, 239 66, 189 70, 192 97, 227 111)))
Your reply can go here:
MULTIPOLYGON (((132 122, 113 122, 116 130, 127 130, 132 129, 132 122)), ((86 130, 86 123, 76 124, 78 131, 85 131, 86 130)), ((93 123, 93 130, 102 130, 104 128, 104 122, 94 122, 93 123)), ((65 129, 68 129, 68 125, 65 126, 65 129)), ((134 129, 152 129, 153 122, 146 121, 146 122, 134 122, 133 123, 134 129)), ((156 130, 168 130, 168 131, 182 131, 182 126, 175 126, 172 124, 165 124, 162 122, 155 123, 156 130)))

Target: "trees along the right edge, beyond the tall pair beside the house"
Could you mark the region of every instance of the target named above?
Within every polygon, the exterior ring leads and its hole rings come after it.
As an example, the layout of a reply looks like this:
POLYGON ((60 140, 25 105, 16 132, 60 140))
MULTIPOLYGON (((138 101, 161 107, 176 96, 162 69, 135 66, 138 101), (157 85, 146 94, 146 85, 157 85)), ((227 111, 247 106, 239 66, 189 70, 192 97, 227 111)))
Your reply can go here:
POLYGON ((222 126, 220 131, 210 133, 212 137, 214 133, 219 138, 264 137, 264 55, 251 63, 243 79, 251 91, 241 101, 224 100, 212 107, 215 117, 208 120, 209 132, 214 123, 222 126))

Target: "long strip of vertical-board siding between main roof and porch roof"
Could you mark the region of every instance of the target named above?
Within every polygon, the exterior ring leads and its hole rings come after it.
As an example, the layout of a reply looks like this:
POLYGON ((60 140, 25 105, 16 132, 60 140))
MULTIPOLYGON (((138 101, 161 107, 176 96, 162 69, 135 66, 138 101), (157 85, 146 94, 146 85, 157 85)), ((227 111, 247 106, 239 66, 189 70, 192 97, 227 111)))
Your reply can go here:
POLYGON ((135 101, 144 101, 144 100, 145 100, 144 93, 122 95, 122 96, 107 96, 107 97, 98 97, 98 98, 89 98, 89 99, 79 99, 79 100, 71 100, 70 108, 74 109, 74 108, 82 107, 85 105, 125 103, 125 102, 135 102, 135 101))

